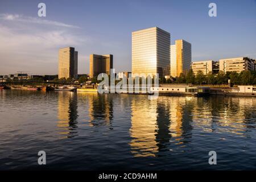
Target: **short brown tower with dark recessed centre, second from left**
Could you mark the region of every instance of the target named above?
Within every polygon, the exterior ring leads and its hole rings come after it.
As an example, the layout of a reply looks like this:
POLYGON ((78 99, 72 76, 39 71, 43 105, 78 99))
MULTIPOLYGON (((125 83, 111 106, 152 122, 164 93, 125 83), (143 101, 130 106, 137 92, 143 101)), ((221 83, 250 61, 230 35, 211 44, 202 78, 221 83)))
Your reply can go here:
POLYGON ((90 78, 100 73, 110 75, 110 69, 113 69, 113 55, 90 55, 90 78))

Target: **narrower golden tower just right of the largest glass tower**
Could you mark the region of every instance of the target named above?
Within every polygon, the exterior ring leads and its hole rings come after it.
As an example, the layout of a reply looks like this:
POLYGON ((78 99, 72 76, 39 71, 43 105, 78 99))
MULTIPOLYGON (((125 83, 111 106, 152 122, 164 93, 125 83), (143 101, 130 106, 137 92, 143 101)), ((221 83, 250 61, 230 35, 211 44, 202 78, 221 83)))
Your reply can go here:
POLYGON ((185 40, 176 40, 170 46, 171 52, 171 76, 180 76, 180 73, 189 71, 191 65, 191 43, 185 40))

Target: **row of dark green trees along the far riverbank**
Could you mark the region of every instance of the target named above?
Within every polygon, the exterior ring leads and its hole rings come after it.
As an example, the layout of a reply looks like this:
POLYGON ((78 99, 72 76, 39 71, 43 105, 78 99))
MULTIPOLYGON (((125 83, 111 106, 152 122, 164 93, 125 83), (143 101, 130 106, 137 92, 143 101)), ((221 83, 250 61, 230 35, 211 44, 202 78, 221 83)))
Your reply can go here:
MULTIPOLYGON (((241 73, 237 72, 226 72, 220 71, 217 74, 212 74, 209 72, 204 75, 203 72, 197 72, 197 75, 191 70, 187 73, 181 73, 179 77, 170 78, 159 78, 159 84, 191 84, 191 85, 207 85, 211 87, 226 87, 229 86, 228 81, 230 80, 230 85, 256 85, 256 71, 243 71, 241 73)), ((29 80, 7 80, 6 82, 1 82, 0 84, 6 85, 37 85, 37 86, 47 86, 49 84, 55 85, 80 85, 85 84, 90 81, 90 84, 98 84, 102 80, 97 80, 97 78, 88 78, 87 76, 82 76, 78 80, 72 80, 72 78, 55 78, 54 80, 44 81, 42 78, 31 78, 29 80)), ((116 80, 116 84, 121 80, 116 80)))

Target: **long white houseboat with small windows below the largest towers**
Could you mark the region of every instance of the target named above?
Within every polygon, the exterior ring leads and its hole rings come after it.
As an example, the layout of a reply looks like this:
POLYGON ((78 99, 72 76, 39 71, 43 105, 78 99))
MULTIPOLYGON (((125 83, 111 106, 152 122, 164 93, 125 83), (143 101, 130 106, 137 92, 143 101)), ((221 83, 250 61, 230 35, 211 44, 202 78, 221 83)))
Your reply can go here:
POLYGON ((189 86, 189 85, 160 85, 159 87, 151 87, 150 92, 158 92, 166 95, 192 95, 200 96, 210 93, 208 86, 189 86))

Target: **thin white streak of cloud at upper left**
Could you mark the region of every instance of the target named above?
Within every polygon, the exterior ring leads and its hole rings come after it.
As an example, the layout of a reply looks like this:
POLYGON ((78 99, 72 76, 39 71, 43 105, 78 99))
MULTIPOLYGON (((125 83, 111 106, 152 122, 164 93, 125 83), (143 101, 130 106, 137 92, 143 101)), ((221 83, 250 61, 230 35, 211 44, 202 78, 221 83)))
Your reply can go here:
POLYGON ((24 16, 19 14, 0 14, 0 19, 8 20, 8 21, 16 21, 16 22, 25 22, 25 23, 48 24, 51 26, 59 26, 59 27, 79 28, 78 26, 74 26, 71 24, 56 22, 56 21, 42 19, 42 18, 36 18, 32 16, 24 16))

